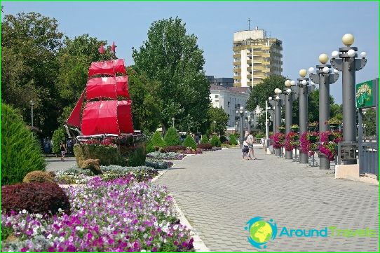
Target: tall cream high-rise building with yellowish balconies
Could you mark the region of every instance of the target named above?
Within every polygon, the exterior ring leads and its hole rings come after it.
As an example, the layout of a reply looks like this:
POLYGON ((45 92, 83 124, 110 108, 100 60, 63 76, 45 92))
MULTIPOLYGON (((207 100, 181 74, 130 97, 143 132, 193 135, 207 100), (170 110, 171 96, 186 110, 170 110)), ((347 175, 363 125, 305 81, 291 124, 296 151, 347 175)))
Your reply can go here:
POLYGON ((283 42, 269 38, 264 29, 233 34, 233 86, 255 86, 270 74, 283 71, 283 42))

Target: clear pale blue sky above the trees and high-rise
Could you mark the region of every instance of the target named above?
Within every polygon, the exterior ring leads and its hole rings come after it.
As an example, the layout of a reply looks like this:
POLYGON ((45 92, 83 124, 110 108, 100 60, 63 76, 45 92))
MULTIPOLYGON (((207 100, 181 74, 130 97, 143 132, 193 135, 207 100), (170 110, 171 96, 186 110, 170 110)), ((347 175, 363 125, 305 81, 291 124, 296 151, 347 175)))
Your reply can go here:
MULTIPOLYGON (((116 55, 133 64, 132 48, 147 40, 151 23, 179 17, 189 34, 198 37, 205 57, 205 74, 233 76, 233 33, 259 27, 283 41, 283 76, 299 77, 299 69, 314 67, 321 53, 329 57, 344 46, 341 37, 355 36, 358 53, 367 52, 367 65, 356 72, 356 83, 379 76, 379 3, 376 1, 1 1, 4 13, 38 12, 59 23, 74 38, 89 34, 115 41, 116 55)), ((341 77, 330 86, 341 103, 341 77)))

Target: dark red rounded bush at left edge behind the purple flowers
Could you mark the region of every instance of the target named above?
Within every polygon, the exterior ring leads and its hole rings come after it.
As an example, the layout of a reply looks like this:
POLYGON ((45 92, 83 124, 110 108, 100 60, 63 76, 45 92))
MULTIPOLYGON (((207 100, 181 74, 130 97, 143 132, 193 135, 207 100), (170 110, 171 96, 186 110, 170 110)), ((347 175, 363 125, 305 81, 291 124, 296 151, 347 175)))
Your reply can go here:
POLYGON ((57 214, 61 209, 70 214, 69 198, 55 183, 27 183, 1 186, 1 210, 34 214, 57 214))

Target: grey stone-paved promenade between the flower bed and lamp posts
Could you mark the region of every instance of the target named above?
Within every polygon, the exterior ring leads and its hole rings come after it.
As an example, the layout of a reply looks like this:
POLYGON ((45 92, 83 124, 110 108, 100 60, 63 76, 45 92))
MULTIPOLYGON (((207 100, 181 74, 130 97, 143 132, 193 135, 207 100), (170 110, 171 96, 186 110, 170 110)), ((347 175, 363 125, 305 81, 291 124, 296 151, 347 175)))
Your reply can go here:
MULTIPOLYGON (((247 242, 252 217, 274 219, 279 228, 372 228, 379 236, 378 186, 334 179, 333 170, 299 165, 255 149, 242 160, 224 149, 176 161, 154 184, 168 186, 179 207, 211 251, 378 252, 378 238, 277 237, 266 249, 247 242)), ((278 234, 280 231, 278 232, 278 234)))

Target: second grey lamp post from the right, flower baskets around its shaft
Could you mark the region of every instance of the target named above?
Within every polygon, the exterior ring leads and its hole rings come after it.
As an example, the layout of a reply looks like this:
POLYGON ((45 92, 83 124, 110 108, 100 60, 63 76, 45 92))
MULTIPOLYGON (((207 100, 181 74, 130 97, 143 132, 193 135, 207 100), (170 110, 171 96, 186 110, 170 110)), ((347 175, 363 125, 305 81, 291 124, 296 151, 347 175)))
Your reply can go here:
MULTIPOLYGON (((326 64, 329 57, 323 53, 319 55, 319 61, 321 64, 316 65, 317 74, 313 74, 314 68, 308 69, 310 73, 310 80, 313 83, 319 84, 319 134, 322 136, 322 132, 329 131, 329 125, 327 124, 330 118, 330 84, 335 83, 339 78, 339 71, 334 69, 334 74, 330 74, 331 65, 326 64)), ((319 168, 320 170, 330 169, 330 160, 323 154, 319 155, 319 168)))

